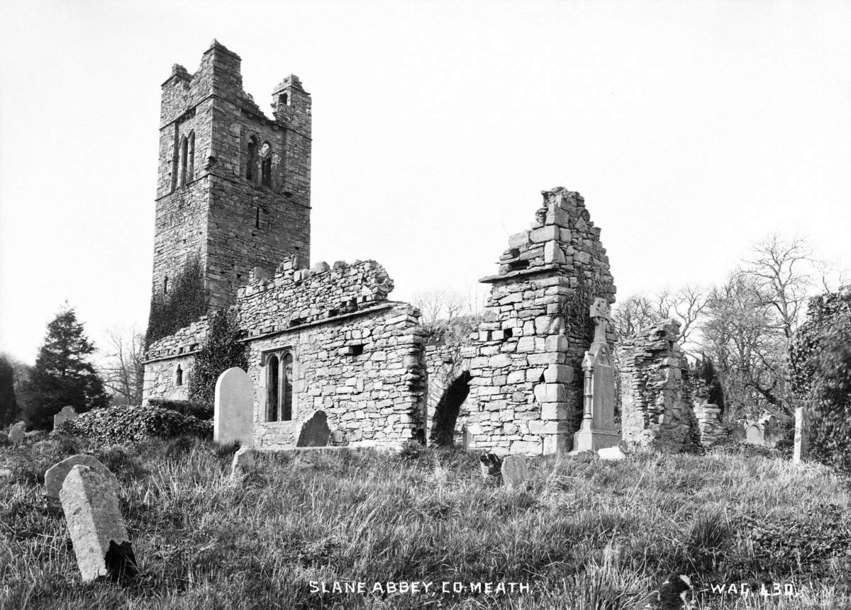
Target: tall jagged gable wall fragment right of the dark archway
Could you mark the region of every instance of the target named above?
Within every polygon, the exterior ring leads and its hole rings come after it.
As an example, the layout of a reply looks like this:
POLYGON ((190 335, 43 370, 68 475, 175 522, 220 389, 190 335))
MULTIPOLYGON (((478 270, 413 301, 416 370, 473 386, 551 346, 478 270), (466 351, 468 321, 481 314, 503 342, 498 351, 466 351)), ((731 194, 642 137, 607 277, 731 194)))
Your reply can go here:
MULTIPOLYGON (((539 455, 570 449, 583 409, 582 359, 595 297, 613 278, 585 200, 543 191, 530 230, 511 235, 472 345, 465 419, 471 449, 539 455)), ((614 342, 614 335, 607 336, 614 342)))

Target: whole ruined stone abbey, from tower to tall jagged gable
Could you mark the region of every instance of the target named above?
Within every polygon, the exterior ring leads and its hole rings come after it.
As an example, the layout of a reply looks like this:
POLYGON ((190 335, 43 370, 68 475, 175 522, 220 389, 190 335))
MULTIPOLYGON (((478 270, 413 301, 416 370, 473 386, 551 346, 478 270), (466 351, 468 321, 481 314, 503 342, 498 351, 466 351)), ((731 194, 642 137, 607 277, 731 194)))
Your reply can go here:
POLYGON ((352 447, 448 438, 540 455, 620 440, 599 408, 614 392, 614 280, 581 195, 543 192, 481 280, 478 329, 451 350, 428 345, 380 263, 311 265, 311 96, 290 75, 271 107, 269 118, 243 91, 240 58, 215 41, 194 74, 175 65, 163 83, 152 296, 196 269, 204 302, 151 343, 146 400, 187 398, 206 314, 231 308, 255 448, 294 447, 317 411, 330 442, 352 447))

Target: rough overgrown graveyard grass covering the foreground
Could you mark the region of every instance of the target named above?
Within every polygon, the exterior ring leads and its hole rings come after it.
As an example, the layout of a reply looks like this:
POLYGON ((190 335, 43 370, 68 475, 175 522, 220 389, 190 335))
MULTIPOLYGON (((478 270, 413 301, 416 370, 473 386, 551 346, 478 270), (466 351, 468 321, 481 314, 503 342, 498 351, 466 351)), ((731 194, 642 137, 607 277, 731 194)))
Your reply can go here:
POLYGON ((671 573, 698 587, 773 576, 796 595, 698 608, 851 602, 848 485, 822 466, 741 449, 707 456, 529 460, 526 489, 488 487, 477 456, 260 454, 191 438, 95 450, 118 477, 141 575, 82 585, 43 473, 76 439, 0 447, 0 607, 631 608, 671 573), (751 520, 749 521, 749 517, 751 520), (528 583, 522 594, 362 596, 310 581, 528 583))

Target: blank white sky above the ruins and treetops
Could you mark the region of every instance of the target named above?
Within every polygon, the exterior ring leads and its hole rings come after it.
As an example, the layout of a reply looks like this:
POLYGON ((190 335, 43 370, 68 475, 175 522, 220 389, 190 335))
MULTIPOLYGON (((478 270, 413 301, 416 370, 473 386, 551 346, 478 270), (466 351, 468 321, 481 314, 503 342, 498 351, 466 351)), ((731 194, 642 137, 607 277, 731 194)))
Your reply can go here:
POLYGON ((267 114, 300 76, 311 262, 374 258, 391 297, 469 291, 555 186, 620 298, 772 232, 848 266, 849 32, 838 2, 3 3, 0 351, 32 362, 66 298, 99 345, 145 329, 160 84, 214 37, 267 114))

